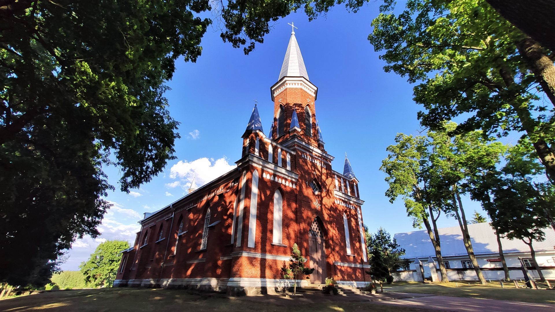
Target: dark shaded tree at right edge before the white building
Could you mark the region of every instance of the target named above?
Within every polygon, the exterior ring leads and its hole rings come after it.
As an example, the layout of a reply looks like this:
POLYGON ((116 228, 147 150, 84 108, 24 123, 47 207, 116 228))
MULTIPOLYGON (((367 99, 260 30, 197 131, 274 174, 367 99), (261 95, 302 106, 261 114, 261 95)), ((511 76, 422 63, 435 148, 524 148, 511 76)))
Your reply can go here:
MULTIPOLYGON (((509 148, 501 170, 476 179, 472 197, 481 200, 496 232, 508 239, 521 239, 536 254, 532 243, 543 241, 543 229, 555 213, 555 187, 538 179, 543 166, 526 139, 509 148)), ((538 270, 543 280, 541 270, 538 270)))

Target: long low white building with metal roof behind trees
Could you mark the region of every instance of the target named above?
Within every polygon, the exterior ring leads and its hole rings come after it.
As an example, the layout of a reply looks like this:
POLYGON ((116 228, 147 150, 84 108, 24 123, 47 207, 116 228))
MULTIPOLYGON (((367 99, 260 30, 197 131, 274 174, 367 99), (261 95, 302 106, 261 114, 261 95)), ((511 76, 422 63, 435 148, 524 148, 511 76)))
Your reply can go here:
MULTIPOLYGON (((499 258, 497 237, 493 228, 489 223, 469 224, 468 232, 476 259, 485 278, 503 279, 504 273, 499 258)), ((552 228, 546 228, 543 232, 546 233, 545 240, 533 241, 532 246, 536 251, 536 261, 545 278, 555 279, 555 231, 552 228)), ((450 280, 477 279, 462 241, 460 227, 440 228, 438 233, 440 235, 441 255, 450 280)), ((430 267, 433 268, 433 265, 428 265, 430 259, 435 261, 435 266, 439 270, 435 251, 426 230, 397 233, 393 237, 397 240, 397 244, 406 250, 403 258, 411 261, 409 268, 393 274, 396 280, 422 280, 420 269, 415 264, 415 262, 418 263, 418 260, 423 264, 425 278, 431 278, 432 276, 430 267)), ((523 278, 519 257, 523 259, 532 276, 538 277, 527 244, 518 239, 501 238, 501 245, 512 279, 523 278)), ((441 278, 439 272, 437 272, 437 276, 441 278)))

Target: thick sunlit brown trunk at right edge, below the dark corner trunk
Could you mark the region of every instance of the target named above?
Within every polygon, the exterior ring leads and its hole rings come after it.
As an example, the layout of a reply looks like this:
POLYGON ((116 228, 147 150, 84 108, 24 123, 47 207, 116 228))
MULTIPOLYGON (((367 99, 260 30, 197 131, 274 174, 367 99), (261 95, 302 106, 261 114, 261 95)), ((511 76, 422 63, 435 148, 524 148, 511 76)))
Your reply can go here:
MULTIPOLYGON (((555 2, 553 5, 555 6, 555 2)), ((555 106, 555 66, 553 66, 553 61, 544 53, 539 43, 530 37, 518 42, 517 48, 521 56, 526 59, 543 92, 555 106)))

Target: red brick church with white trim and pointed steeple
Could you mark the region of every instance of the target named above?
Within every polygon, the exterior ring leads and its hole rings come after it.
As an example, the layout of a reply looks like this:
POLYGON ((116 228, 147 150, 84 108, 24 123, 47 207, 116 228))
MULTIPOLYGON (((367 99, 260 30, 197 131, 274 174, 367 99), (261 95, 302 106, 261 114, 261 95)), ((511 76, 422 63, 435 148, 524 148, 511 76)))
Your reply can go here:
POLYGON ((291 248, 315 268, 306 283, 364 286, 370 276, 359 181, 324 148, 316 119, 318 88, 309 80, 295 32, 278 82, 274 120, 263 132, 256 105, 237 168, 155 213, 145 213, 123 251, 116 286, 189 286, 235 294, 290 286, 281 268, 291 248))

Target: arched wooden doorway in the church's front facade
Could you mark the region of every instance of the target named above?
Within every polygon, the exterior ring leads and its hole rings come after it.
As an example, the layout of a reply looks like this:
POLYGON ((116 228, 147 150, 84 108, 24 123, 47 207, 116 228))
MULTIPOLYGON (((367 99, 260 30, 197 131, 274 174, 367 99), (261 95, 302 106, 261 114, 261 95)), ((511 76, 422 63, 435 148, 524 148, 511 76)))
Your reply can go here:
POLYGON ((326 279, 326 251, 324 232, 317 217, 309 229, 309 257, 310 268, 314 268, 310 275, 311 283, 323 284, 326 279))

